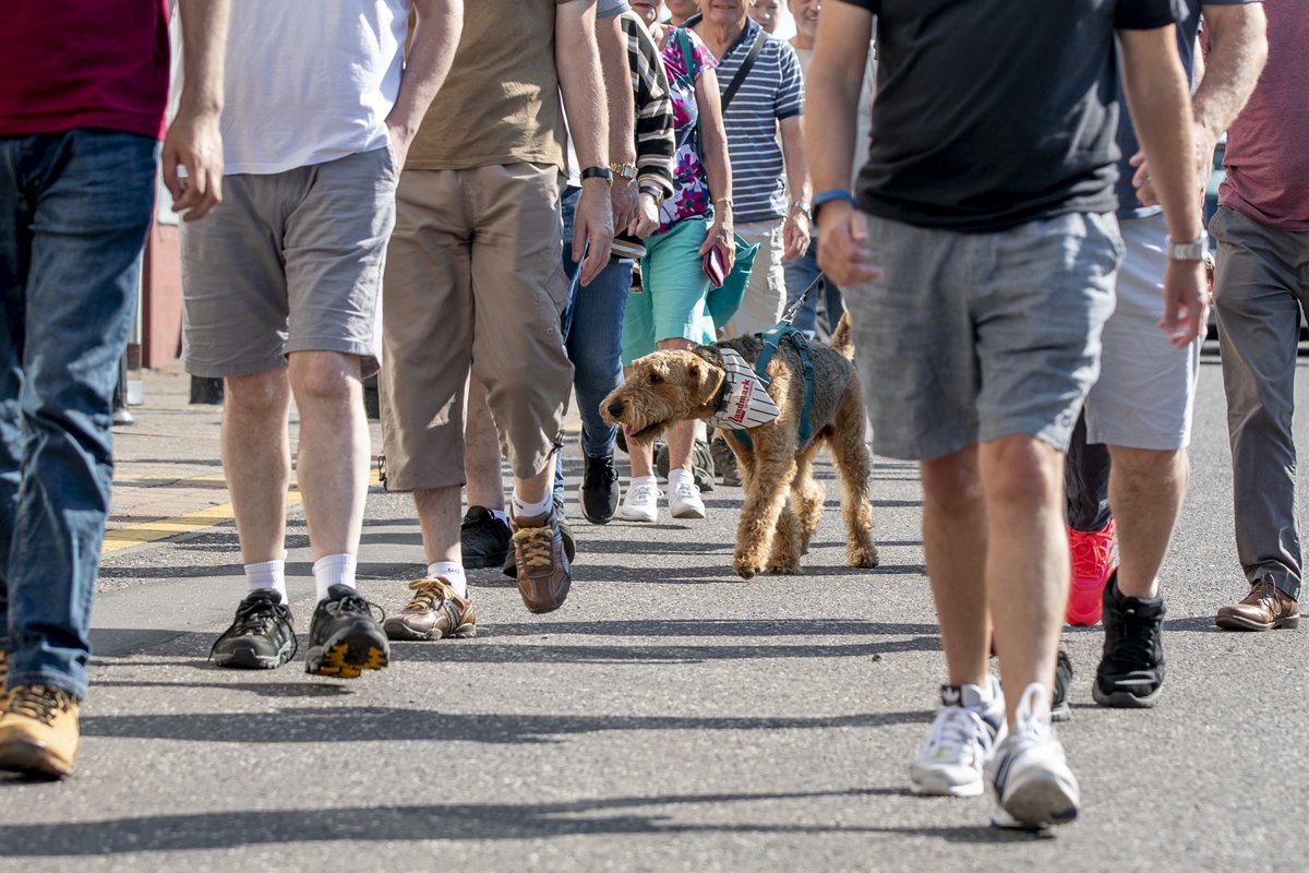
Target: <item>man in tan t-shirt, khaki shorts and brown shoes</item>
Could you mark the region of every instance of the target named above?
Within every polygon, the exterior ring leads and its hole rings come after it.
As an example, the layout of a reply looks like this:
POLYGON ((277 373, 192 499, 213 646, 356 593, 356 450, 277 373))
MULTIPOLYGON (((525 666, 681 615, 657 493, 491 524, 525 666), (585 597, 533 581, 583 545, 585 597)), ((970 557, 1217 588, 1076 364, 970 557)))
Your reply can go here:
POLYGON ((428 573, 387 619, 391 639, 475 632, 459 548, 470 370, 514 475, 522 599, 546 613, 568 596, 550 491, 573 376, 559 330, 568 302, 559 94, 583 166, 571 246, 585 285, 613 238, 594 16, 594 0, 470 5, 450 76, 404 164, 386 255, 382 433, 386 487, 414 492, 428 573))

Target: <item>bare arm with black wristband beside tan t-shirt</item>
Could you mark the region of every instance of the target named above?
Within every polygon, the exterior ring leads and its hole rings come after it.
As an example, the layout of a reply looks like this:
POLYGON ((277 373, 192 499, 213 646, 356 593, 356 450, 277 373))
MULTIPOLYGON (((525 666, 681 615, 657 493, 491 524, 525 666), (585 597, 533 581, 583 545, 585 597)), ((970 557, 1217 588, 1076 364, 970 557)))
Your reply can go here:
MULTIPOLYGON (((569 0, 555 8, 555 69, 577 160, 584 169, 607 166, 609 123, 600 48, 596 46, 594 0, 569 0)), ((627 88, 630 90, 631 85, 627 88)), ((613 242, 614 213, 609 204, 609 186, 603 179, 583 179, 573 213, 572 240, 572 258, 579 262, 581 284, 590 284, 605 268, 613 242)))

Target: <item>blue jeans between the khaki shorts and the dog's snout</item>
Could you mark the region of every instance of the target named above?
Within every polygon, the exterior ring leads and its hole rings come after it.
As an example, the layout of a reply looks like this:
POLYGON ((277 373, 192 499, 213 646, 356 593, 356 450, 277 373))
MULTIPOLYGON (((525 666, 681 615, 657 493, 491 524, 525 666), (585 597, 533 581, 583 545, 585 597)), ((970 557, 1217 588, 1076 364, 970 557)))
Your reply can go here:
MULTIPOLYGON (((567 187, 563 192, 564 213, 564 272, 571 280, 577 272, 572 259, 572 219, 581 188, 567 187)), ((618 428, 600 415, 600 402, 623 381, 622 339, 623 312, 632 284, 632 262, 627 258, 611 259, 585 288, 573 284, 568 308, 564 309, 564 348, 573 364, 573 393, 581 410, 581 445, 592 458, 614 453, 618 428)), ((555 465, 555 499, 563 500, 563 453, 555 465)))

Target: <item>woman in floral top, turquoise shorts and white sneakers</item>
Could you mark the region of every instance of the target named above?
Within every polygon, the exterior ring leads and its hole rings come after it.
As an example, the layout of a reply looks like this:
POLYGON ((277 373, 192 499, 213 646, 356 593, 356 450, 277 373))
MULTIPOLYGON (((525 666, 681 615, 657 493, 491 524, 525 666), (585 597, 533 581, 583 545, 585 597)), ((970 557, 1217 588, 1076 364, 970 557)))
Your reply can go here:
MULTIPOLYGON (((664 72, 673 99, 677 154, 673 195, 660 204, 658 226, 643 230, 643 293, 628 297, 623 321, 623 365, 656 349, 691 348, 713 342, 713 322, 704 305, 709 283, 704 255, 717 247, 725 272, 736 257, 732 230, 732 168, 719 105, 717 60, 690 30, 656 24, 661 3, 634 3, 652 35, 661 42, 664 72), (681 34, 681 35, 679 35, 681 34), (690 58, 683 56, 683 46, 690 58), (699 124, 698 124, 699 122, 699 124), (703 141, 696 143, 696 127, 703 141)), ((668 432, 669 508, 674 518, 703 518, 704 501, 691 475, 695 421, 681 421, 668 432)), ((632 479, 618 509, 626 521, 658 517, 658 483, 651 444, 628 445, 632 479)))

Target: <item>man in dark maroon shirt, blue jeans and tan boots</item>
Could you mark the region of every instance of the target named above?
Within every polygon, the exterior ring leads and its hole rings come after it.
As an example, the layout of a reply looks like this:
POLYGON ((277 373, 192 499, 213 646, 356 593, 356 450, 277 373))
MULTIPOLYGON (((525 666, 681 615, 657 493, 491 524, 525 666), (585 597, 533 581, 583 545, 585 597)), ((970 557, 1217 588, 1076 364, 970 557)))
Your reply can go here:
MULTIPOLYGON (((182 0, 174 208, 220 199, 229 0, 182 0), (185 168, 185 178, 179 174, 185 168)), ((154 209, 168 0, 10 0, 0 17, 0 770, 77 753, 118 359, 154 209)))

